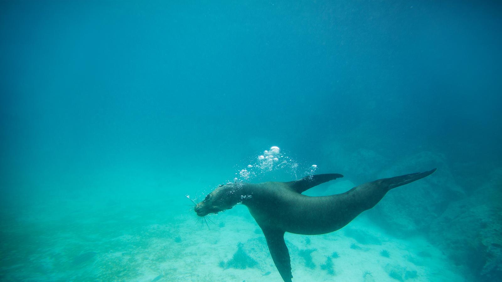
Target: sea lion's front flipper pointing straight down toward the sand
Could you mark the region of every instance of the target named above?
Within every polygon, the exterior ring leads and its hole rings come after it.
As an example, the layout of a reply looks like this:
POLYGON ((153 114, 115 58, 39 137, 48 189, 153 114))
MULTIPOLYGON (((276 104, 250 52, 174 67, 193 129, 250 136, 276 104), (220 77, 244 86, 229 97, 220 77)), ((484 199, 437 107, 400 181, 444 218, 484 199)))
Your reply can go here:
POLYGON ((291 282, 291 278, 293 278, 293 275, 291 275, 291 260, 288 247, 284 242, 284 231, 264 228, 262 230, 279 274, 281 274, 285 282, 291 282))

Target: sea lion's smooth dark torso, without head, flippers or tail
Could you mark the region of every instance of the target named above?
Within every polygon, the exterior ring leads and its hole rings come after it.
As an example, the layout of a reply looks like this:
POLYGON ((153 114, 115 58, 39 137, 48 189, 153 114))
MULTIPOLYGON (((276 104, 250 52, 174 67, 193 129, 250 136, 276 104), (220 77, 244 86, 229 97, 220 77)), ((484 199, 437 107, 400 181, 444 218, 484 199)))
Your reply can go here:
POLYGON ((261 227, 303 235, 336 231, 372 208, 387 193, 365 184, 343 194, 309 197, 280 182, 257 184, 253 190, 253 198, 244 205, 261 227))

